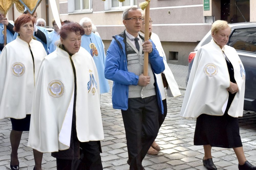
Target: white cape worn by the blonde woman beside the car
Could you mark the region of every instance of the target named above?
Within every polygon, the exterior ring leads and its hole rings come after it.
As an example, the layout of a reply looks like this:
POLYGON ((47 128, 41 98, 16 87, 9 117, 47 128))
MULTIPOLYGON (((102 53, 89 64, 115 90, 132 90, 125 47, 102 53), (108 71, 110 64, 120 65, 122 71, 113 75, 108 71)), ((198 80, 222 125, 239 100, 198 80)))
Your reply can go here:
POLYGON ((233 65, 234 79, 239 88, 228 110, 228 115, 243 116, 245 89, 243 64, 234 48, 225 45, 221 49, 213 39, 197 51, 180 116, 197 118, 201 114, 224 115, 229 96, 227 88, 230 86, 230 79, 222 51, 233 65))

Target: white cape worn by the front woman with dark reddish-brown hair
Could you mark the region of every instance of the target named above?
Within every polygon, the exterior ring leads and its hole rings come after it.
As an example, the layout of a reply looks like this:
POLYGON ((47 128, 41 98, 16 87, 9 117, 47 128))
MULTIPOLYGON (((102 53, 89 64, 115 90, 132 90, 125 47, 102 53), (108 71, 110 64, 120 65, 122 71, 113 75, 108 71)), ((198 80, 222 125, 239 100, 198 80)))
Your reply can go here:
MULTIPOLYGON (((76 71, 77 137, 81 142, 102 140, 100 88, 94 60, 82 47, 71 58, 76 71)), ((57 47, 44 58, 39 69, 32 103, 29 147, 40 152, 69 149, 73 91, 74 73, 70 56, 57 47), (57 83, 61 90, 54 93, 49 88, 51 82, 57 83)))

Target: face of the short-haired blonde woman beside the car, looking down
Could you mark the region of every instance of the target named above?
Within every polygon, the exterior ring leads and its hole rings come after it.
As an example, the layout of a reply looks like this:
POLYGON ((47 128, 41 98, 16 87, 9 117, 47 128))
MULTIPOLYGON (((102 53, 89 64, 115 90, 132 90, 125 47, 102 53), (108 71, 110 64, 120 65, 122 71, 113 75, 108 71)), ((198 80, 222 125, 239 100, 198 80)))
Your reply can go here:
POLYGON ((223 48, 228 43, 229 35, 230 28, 227 27, 222 30, 219 30, 215 34, 212 33, 212 38, 219 47, 223 48))

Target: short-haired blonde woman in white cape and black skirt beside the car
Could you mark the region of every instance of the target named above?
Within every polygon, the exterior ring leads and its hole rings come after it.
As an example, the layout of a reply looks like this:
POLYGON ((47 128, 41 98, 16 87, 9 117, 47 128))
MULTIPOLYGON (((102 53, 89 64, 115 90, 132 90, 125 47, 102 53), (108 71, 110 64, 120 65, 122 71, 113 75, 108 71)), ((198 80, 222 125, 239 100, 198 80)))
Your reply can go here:
POLYGON ((211 42, 194 58, 180 115, 197 118, 194 145, 203 145, 203 166, 207 169, 217 169, 212 147, 233 148, 238 169, 256 169, 245 158, 239 134, 245 71, 236 50, 226 45, 230 33, 226 21, 212 24, 211 42))

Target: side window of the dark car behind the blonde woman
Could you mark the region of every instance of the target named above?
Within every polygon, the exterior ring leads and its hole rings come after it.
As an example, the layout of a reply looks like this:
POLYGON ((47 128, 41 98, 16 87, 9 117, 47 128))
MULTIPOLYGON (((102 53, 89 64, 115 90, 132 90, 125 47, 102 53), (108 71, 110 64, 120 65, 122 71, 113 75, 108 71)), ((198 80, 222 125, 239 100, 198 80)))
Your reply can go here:
POLYGON ((236 50, 256 52, 256 28, 234 30, 228 45, 236 50))

